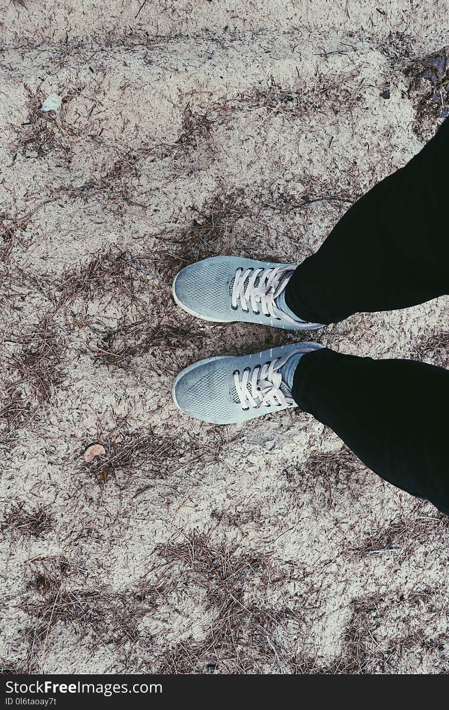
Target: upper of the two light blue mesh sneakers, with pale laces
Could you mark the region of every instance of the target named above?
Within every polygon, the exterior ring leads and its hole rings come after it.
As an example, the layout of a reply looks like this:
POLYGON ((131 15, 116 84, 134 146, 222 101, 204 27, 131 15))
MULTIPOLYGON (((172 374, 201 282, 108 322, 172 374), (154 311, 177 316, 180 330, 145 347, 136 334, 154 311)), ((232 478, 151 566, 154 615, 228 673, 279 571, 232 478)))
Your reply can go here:
POLYGON ((275 328, 310 330, 309 323, 289 309, 284 290, 296 264, 213 256, 179 271, 172 293, 187 313, 216 323, 243 321, 275 328))

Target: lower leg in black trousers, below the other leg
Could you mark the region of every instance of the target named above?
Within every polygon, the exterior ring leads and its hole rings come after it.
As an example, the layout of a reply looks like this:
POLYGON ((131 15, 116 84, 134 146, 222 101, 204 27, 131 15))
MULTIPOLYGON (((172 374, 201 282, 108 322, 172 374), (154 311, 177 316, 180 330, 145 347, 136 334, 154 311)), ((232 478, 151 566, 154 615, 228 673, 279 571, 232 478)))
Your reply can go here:
POLYGON ((449 514, 449 371, 323 348, 301 356, 292 396, 372 471, 449 514))

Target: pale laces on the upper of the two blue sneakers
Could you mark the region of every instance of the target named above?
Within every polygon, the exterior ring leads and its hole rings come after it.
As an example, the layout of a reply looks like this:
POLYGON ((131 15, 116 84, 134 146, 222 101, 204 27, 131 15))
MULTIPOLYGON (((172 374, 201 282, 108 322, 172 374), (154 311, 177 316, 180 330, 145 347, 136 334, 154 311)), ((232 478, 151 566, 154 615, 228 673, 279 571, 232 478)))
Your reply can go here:
POLYGON ((292 325, 301 323, 301 320, 295 320, 291 316, 284 313, 276 305, 276 299, 282 293, 284 288, 289 283, 292 276, 284 278, 286 273, 295 271, 294 266, 274 266, 271 268, 248 268, 243 271, 243 268, 238 268, 235 272, 235 278, 232 289, 232 307, 234 310, 238 308, 238 300, 240 299, 242 310, 245 313, 249 312, 249 302, 253 309, 253 313, 258 315, 260 310, 258 305, 262 307, 262 312, 266 316, 271 316, 277 320, 287 320, 292 325), (245 281, 248 280, 248 286, 245 288, 245 281), (255 282, 259 278, 257 287, 255 282), (284 280, 282 281, 282 279, 284 280), (282 281, 282 283, 281 283, 282 281))

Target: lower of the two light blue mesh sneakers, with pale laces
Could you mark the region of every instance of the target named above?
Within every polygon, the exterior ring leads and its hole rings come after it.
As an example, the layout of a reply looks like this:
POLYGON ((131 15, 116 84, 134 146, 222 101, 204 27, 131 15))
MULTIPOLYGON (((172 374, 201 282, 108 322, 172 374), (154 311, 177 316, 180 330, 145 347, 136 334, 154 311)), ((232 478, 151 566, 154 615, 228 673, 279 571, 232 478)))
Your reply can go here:
POLYGON ((173 399, 191 417, 237 424, 296 407, 293 377, 299 359, 318 343, 293 343, 253 355, 218 356, 189 365, 173 384, 173 399))

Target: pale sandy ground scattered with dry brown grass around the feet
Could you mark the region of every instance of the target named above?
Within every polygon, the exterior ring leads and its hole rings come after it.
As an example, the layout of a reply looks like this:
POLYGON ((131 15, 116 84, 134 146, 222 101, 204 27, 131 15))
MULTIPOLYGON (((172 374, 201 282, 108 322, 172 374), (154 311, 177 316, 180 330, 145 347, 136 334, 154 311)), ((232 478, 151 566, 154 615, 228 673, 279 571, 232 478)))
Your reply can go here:
MULTIPOLYGON (((292 341, 192 319, 172 277, 216 253, 299 262, 404 165, 445 107, 446 73, 440 103, 417 77, 448 4, 0 18, 4 672, 448 672, 443 515, 309 415, 214 427, 170 394, 197 359, 292 341)), ((314 338, 445 366, 447 316, 440 298, 314 338)))

